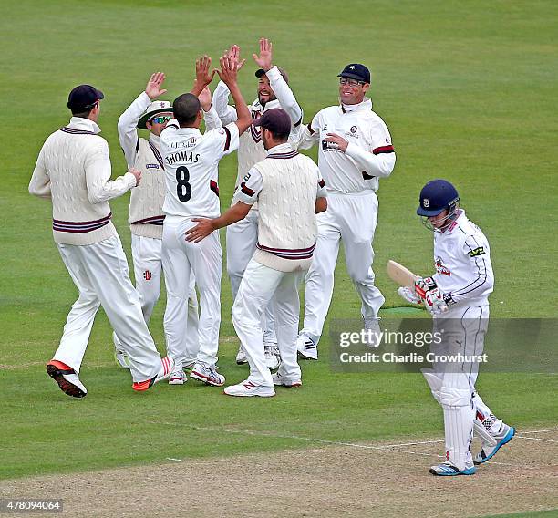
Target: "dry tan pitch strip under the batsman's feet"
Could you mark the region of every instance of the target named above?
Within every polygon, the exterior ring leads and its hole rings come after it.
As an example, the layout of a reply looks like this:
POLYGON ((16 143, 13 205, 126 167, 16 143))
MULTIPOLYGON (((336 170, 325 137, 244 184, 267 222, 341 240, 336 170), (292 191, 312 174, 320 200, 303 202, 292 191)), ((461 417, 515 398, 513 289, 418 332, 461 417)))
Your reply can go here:
POLYGON ((4 481, 0 493, 61 498, 63 514, 71 516, 434 518, 558 508, 558 429, 519 431, 470 477, 429 475, 442 440, 317 444, 305 451, 4 481))

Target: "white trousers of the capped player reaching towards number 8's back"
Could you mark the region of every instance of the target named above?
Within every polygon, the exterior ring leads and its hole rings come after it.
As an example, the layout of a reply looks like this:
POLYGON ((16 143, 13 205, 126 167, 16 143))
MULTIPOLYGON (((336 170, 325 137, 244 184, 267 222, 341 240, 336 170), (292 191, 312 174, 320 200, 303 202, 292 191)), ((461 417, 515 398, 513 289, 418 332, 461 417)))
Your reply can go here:
POLYGON ((300 301, 298 285, 305 271, 279 272, 253 259, 246 266, 243 280, 233 305, 233 326, 243 343, 250 364, 249 381, 254 385, 273 387, 269 368, 265 365, 261 318, 266 306, 273 302, 277 346, 281 354, 279 373, 300 379, 296 362, 296 335, 300 301))

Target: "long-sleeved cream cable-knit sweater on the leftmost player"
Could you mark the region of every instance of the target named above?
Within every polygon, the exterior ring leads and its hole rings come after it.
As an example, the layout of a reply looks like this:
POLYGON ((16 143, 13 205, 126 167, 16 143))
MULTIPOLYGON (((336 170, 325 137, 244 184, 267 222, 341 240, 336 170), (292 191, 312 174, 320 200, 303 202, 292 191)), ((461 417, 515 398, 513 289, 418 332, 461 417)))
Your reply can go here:
POLYGON ((109 200, 136 185, 130 172, 110 180, 109 145, 89 119, 72 117, 39 152, 29 192, 52 199, 57 243, 93 244, 116 235, 109 200))

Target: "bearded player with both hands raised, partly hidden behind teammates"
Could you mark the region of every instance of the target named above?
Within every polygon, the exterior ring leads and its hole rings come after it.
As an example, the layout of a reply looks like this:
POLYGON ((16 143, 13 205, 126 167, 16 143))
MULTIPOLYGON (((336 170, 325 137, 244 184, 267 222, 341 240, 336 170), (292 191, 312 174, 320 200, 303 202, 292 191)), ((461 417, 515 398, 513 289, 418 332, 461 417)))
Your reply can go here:
MULTIPOLYGON (((240 48, 233 45, 226 54, 232 58, 238 67, 242 67, 244 61, 240 60, 240 48)), ((282 108, 291 119, 292 142, 299 140, 299 133, 303 127, 303 111, 294 98, 293 91, 288 85, 288 77, 282 68, 273 65, 272 42, 260 39, 260 54, 253 54, 255 63, 260 67, 255 72, 258 83, 258 98, 248 107, 253 120, 257 120, 267 109, 282 108)), ((213 92, 213 104, 223 124, 229 124, 236 119, 236 111, 228 105, 229 89, 220 82, 213 92)), ((254 124, 243 132, 240 137, 238 148, 238 173, 231 205, 239 200, 239 189, 241 181, 256 162, 263 161, 266 151, 263 147, 262 132, 254 124)), ((244 270, 250 261, 258 240, 258 212, 257 203, 253 205, 248 215, 238 223, 227 227, 227 274, 231 280, 233 298, 238 293, 244 270)), ((279 365, 279 354, 277 351, 277 337, 274 329, 274 316, 271 305, 263 315, 263 341, 265 343, 265 358, 269 368, 275 369, 279 365)), ((237 363, 246 363, 246 355, 241 347, 236 357, 237 363)))

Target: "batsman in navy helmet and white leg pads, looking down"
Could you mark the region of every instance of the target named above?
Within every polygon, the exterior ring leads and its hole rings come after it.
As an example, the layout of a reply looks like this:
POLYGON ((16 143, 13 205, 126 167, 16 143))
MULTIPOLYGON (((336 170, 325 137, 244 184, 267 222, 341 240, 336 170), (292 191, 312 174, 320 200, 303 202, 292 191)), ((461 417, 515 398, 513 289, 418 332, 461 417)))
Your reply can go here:
MULTIPOLYGON (((420 192, 418 215, 434 230, 436 274, 418 279, 415 293, 399 288, 409 302, 423 301, 443 329, 442 353, 481 355, 489 322, 489 295, 494 286, 491 250, 480 228, 459 209, 459 194, 445 180, 429 181, 420 192)), ((437 352, 433 351, 433 352, 437 352)), ((444 411, 446 461, 433 475, 471 475, 511 440, 515 430, 498 419, 475 389, 478 363, 435 364, 424 368, 434 398, 444 411), (473 430, 482 441, 472 458, 473 430)))

